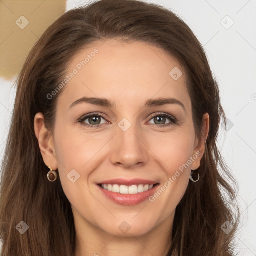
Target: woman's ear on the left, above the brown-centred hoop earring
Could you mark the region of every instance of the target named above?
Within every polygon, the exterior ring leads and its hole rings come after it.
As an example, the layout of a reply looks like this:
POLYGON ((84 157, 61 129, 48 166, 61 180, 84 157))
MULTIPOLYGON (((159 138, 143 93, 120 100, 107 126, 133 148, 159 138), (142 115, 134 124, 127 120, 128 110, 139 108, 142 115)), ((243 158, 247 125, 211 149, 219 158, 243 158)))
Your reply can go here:
POLYGON ((51 132, 45 127, 44 116, 42 113, 37 113, 34 116, 34 132, 45 165, 52 170, 56 170, 58 166, 55 157, 54 138, 51 132))

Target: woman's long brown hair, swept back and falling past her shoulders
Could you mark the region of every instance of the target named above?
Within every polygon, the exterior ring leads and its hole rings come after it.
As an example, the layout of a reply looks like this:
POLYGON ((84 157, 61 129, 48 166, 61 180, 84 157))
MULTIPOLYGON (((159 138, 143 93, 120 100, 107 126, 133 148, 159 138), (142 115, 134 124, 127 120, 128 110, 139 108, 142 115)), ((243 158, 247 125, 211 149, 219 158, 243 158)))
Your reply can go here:
POLYGON ((57 19, 33 46, 17 78, 1 168, 2 256, 74 254, 70 202, 60 179, 53 183, 47 180, 49 169, 39 150, 33 119, 42 112, 47 128, 53 130, 57 98, 64 88, 50 99, 47 94, 61 83, 68 63, 79 50, 108 38, 143 41, 174 56, 185 68, 197 135, 202 134, 203 114, 207 112, 210 117, 206 149, 197 169, 200 180, 188 184, 176 207, 167 255, 233 255, 239 222, 237 183, 216 145, 221 118, 224 123, 226 119, 203 47, 190 28, 162 6, 136 0, 102 0, 67 11, 57 19), (20 221, 29 227, 24 234, 16 229, 20 221), (230 232, 221 228, 226 221, 233 226, 230 232))

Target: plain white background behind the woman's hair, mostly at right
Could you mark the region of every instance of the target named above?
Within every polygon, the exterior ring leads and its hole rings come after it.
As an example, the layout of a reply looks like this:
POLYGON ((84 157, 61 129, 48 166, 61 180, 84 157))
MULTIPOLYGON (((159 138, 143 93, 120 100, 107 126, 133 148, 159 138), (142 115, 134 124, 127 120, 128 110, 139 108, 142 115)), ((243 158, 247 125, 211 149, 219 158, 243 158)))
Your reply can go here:
MULTIPOLYGON (((229 120, 227 130, 220 127, 218 146, 239 184, 237 253, 256 255, 256 0, 145 1, 178 14, 206 50, 229 120)), ((68 0, 66 10, 87 2, 68 0)), ((13 82, 0 77, 1 159, 14 103, 13 82)))

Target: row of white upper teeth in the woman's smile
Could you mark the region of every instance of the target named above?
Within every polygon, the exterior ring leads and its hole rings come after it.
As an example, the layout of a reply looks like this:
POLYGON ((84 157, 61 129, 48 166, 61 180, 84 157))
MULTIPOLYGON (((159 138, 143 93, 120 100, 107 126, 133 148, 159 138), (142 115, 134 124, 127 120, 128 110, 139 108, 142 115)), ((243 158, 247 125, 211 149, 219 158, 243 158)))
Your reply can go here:
POLYGON ((153 188, 153 184, 140 184, 140 185, 131 185, 131 186, 125 186, 125 185, 111 185, 111 184, 101 184, 101 187, 105 190, 114 192, 114 193, 120 193, 120 194, 137 194, 142 193, 145 191, 148 191, 153 188))

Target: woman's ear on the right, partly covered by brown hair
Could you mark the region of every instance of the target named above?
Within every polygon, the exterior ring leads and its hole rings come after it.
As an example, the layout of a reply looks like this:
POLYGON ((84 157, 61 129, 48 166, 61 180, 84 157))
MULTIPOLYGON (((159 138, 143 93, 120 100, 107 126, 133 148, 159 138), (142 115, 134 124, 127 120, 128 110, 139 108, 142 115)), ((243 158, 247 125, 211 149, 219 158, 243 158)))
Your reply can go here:
POLYGON ((196 137, 195 143, 194 143, 194 150, 193 150, 193 156, 192 156, 194 160, 192 161, 192 164, 191 164, 191 170, 196 170, 200 166, 201 158, 205 151, 206 139, 209 133, 209 122, 210 122, 209 114, 205 113, 202 116, 202 135, 200 138, 196 137))

